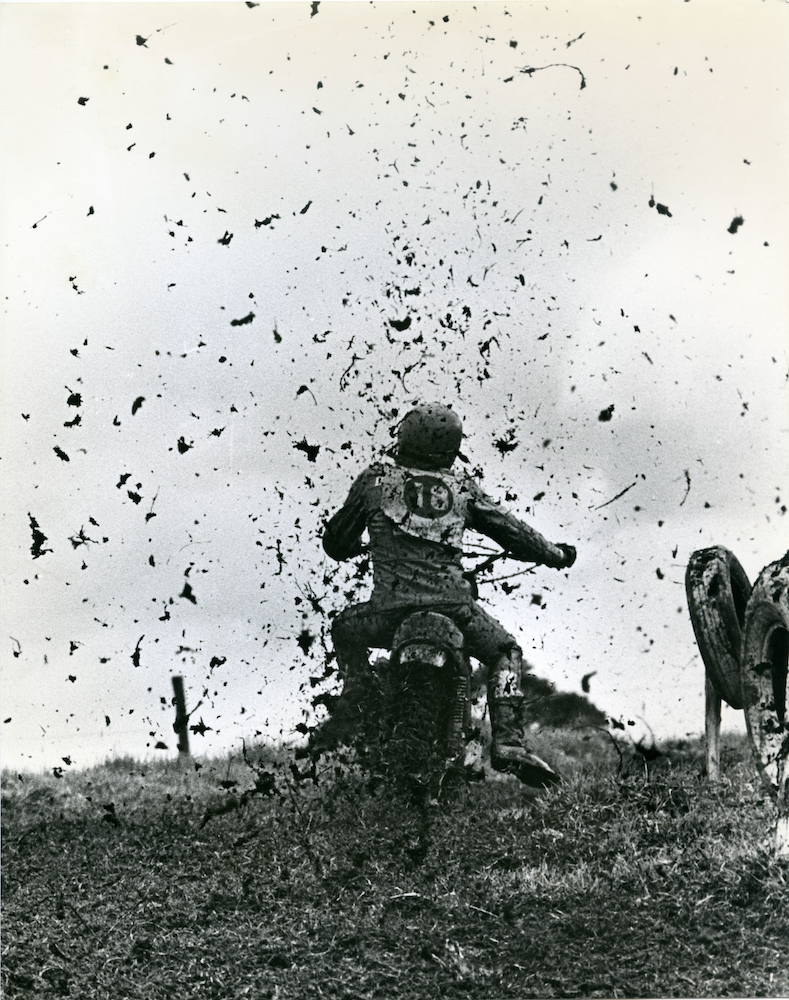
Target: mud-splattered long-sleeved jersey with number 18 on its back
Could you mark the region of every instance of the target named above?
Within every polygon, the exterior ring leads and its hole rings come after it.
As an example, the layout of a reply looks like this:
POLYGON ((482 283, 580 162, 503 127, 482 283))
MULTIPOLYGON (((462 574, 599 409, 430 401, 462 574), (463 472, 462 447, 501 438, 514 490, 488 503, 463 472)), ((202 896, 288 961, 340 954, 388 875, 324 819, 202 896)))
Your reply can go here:
POLYGON ((460 561, 466 528, 525 562, 560 566, 564 560, 562 549, 491 500, 465 473, 383 462, 353 484, 326 526, 323 547, 333 559, 350 559, 361 553, 367 530, 375 602, 464 601, 471 599, 460 561))

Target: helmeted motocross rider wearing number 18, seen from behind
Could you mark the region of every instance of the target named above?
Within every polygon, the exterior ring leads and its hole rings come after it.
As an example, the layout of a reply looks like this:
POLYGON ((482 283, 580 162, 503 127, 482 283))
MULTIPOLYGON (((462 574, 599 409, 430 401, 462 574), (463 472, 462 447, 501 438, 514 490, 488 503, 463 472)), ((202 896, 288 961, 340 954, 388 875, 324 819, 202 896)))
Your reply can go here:
POLYGON ((453 471, 462 437, 461 420, 449 407, 415 407, 399 424, 394 464, 365 469, 326 525, 323 547, 338 561, 362 554, 366 529, 373 565, 370 600, 341 611, 332 626, 344 682, 339 706, 354 711, 354 684, 369 672, 368 647, 391 648, 397 627, 413 611, 439 612, 457 624, 468 653, 487 668, 492 766, 544 786, 559 777, 527 749, 522 650, 474 600, 460 561, 463 533, 473 528, 515 559, 556 569, 572 566, 575 549, 547 541, 465 472, 453 471))

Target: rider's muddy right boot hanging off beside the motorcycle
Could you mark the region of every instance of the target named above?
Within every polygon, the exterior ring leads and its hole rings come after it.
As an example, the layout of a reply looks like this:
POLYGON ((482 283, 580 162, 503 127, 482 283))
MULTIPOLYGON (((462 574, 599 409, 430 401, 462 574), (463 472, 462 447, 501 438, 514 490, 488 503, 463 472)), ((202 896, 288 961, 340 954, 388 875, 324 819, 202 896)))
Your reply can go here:
POLYGON ((522 654, 516 646, 494 664, 488 678, 490 763, 495 771, 514 774, 525 785, 545 788, 561 781, 554 769, 526 743, 524 699, 521 693, 522 654))

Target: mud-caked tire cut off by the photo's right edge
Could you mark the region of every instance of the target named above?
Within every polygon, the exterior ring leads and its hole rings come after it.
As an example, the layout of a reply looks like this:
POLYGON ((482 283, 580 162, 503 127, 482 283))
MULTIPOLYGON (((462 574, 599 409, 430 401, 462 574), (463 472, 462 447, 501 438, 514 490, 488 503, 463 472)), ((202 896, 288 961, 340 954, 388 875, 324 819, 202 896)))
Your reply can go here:
MULTIPOLYGON (((789 656, 789 552, 765 566, 745 613, 742 700, 756 766, 773 796, 789 780, 787 717, 789 656)), ((785 797, 786 789, 783 790, 785 797)))

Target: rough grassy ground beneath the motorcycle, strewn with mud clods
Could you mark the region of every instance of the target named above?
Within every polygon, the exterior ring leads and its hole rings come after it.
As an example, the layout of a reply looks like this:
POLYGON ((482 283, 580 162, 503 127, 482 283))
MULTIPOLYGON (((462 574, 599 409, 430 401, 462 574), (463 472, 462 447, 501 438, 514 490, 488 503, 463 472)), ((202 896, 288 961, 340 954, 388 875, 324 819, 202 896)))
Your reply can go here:
POLYGON ((284 751, 4 773, 3 995, 789 995, 789 866, 745 742, 713 785, 698 743, 645 765, 542 740, 561 787, 492 779, 430 816, 338 760, 296 781, 284 751))

